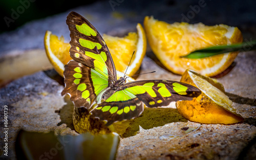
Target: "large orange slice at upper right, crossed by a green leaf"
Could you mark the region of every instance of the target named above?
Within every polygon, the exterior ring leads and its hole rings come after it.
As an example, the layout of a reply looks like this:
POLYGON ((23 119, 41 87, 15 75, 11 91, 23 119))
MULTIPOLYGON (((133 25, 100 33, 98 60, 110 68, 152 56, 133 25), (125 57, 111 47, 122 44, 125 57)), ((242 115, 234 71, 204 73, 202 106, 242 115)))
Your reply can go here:
POLYGON ((146 16, 144 28, 150 46, 160 62, 175 74, 182 75, 187 68, 205 76, 216 76, 237 57, 238 52, 201 59, 180 58, 197 49, 213 45, 240 43, 242 34, 237 27, 226 25, 190 25, 185 22, 167 24, 146 16))

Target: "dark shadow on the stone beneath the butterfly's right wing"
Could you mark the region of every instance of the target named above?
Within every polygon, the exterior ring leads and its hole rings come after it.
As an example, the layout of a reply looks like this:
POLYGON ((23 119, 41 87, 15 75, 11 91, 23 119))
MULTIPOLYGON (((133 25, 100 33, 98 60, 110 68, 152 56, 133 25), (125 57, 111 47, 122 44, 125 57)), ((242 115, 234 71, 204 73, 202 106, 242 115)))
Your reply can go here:
POLYGON ((173 122, 187 122, 187 120, 174 108, 146 107, 140 117, 130 122, 130 126, 126 129, 125 133, 122 134, 122 137, 127 138, 136 135, 139 131, 139 126, 143 129, 151 129, 173 122))

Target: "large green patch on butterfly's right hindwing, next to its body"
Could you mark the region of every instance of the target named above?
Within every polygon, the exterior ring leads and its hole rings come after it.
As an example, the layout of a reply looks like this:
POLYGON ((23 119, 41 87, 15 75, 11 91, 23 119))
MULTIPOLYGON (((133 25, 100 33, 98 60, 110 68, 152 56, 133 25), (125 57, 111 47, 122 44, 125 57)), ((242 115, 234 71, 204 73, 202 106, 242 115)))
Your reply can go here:
POLYGON ((136 96, 124 89, 115 92, 110 98, 106 99, 106 102, 127 101, 133 98, 136 98, 136 96))

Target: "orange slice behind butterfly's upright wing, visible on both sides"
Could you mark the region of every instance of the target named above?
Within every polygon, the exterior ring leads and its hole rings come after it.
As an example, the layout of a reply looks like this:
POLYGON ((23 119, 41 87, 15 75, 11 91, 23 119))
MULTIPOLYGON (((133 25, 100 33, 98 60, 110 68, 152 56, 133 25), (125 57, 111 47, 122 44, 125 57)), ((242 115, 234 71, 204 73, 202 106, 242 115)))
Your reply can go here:
MULTIPOLYGON (((125 72, 134 53, 126 75, 132 76, 138 70, 146 53, 146 35, 143 27, 137 25, 137 33, 129 33, 126 37, 113 37, 103 35, 108 45, 117 71, 125 72)), ((64 38, 58 38, 50 31, 45 34, 46 54, 59 75, 63 77, 64 65, 72 58, 69 54, 70 44, 64 42, 64 38)), ((123 76, 123 75, 122 75, 123 76)))

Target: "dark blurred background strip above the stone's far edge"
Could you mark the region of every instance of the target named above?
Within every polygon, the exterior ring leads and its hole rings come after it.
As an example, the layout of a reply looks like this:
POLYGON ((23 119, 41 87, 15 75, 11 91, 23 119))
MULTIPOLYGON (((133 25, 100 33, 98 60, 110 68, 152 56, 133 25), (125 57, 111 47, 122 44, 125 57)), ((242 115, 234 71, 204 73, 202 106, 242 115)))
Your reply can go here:
MULTIPOLYGON (((16 28, 26 24, 26 22, 41 19, 57 13, 65 12, 75 7, 88 6, 93 3, 100 3, 104 0, 1 0, 0 1, 0 33, 15 30, 16 28), (18 7, 22 6, 21 2, 30 2, 19 17, 10 22, 8 27, 5 17, 11 18, 13 10, 16 11, 18 7)), ((105 0, 110 2, 110 0, 105 0)), ((167 22, 182 21, 181 14, 187 14, 191 11, 189 6, 198 5, 200 1, 204 1, 207 6, 201 8, 201 11, 191 18, 189 23, 194 24, 203 22, 206 25, 226 24, 229 26, 238 26, 240 28, 246 27, 250 30, 255 30, 256 26, 256 1, 253 0, 111 0, 112 2, 120 2, 120 7, 116 7, 115 11, 130 10, 136 12, 137 15, 152 13, 155 18, 167 22), (159 9, 156 4, 163 4, 159 9), (164 7, 163 7, 164 6, 164 7), (169 9, 168 9, 169 8, 169 9)), ((159 5, 160 6, 160 5, 159 5)), ((112 10, 108 4, 105 6, 107 10, 112 10)), ((99 11, 100 12, 100 11, 99 11)), ((246 30, 245 29, 245 30, 246 30)))

